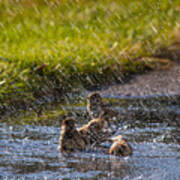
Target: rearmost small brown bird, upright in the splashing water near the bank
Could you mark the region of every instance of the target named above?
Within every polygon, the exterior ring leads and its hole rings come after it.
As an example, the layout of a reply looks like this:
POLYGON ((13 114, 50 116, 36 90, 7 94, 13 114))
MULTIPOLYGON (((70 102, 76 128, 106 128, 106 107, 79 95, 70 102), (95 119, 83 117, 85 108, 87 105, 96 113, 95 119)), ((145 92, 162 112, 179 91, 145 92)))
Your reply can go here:
POLYGON ((106 113, 106 117, 109 118, 109 128, 111 128, 111 131, 118 129, 118 112, 105 104, 98 92, 93 92, 87 97, 87 111, 92 119, 96 119, 100 114, 106 113))

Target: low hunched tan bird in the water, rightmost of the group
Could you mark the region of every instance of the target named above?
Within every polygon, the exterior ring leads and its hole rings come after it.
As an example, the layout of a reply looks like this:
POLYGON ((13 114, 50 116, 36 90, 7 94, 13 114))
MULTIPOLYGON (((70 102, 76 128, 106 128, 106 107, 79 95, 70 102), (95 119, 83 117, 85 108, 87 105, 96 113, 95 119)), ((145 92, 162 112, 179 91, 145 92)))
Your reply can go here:
POLYGON ((111 138, 113 144, 109 149, 109 154, 116 156, 130 156, 133 151, 130 144, 121 135, 111 138))

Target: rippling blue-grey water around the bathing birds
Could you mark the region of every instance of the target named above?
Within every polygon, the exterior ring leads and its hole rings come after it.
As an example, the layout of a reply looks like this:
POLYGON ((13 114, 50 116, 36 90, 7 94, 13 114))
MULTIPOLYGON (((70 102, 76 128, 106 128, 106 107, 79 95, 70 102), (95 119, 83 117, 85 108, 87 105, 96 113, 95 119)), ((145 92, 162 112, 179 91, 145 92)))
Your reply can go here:
POLYGON ((122 117, 126 114, 117 134, 132 145, 131 157, 110 156, 101 149, 62 155, 59 126, 0 123, 0 179, 180 179, 179 104, 149 109, 114 104, 122 117))

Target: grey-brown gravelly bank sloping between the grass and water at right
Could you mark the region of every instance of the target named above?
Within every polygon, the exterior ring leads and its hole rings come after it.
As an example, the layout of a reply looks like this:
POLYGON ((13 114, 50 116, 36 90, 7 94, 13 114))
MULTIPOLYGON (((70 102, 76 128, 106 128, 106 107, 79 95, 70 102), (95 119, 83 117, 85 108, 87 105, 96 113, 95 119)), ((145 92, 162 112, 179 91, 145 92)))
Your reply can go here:
POLYGON ((179 95, 180 64, 174 63, 169 69, 134 75, 122 84, 103 86, 100 93, 112 96, 179 95))

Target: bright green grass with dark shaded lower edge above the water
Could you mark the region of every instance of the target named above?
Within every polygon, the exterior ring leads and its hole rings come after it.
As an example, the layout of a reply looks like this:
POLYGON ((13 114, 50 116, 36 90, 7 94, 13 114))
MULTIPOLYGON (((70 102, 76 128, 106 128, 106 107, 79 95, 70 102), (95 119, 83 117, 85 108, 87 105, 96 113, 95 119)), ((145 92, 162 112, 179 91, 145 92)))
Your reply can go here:
POLYGON ((0 101, 21 108, 154 67, 137 57, 174 41, 180 1, 2 0, 0 14, 0 101))

